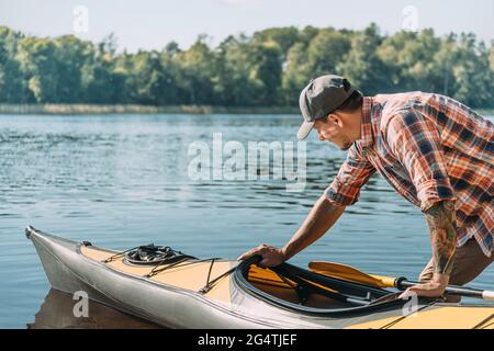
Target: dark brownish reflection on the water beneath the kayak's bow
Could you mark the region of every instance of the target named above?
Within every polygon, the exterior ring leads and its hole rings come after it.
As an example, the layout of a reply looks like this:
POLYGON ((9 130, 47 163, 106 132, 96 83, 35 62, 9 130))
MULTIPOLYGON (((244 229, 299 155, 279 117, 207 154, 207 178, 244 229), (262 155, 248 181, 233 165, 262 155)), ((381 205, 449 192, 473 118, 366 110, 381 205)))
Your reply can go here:
POLYGON ((89 302, 88 317, 75 317, 76 302, 69 294, 49 290, 43 305, 27 329, 158 329, 160 327, 123 314, 93 301, 89 302))

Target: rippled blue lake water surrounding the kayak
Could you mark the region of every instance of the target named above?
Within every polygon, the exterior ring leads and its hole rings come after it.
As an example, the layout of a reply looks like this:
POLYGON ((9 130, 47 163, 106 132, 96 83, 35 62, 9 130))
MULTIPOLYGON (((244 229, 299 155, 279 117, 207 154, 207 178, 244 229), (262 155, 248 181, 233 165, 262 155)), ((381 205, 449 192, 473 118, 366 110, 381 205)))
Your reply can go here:
MULTIPOLYGON (((212 151, 214 133, 246 149, 294 141, 299 125, 296 115, 0 116, 0 327, 25 328, 56 301, 26 225, 102 247, 155 242, 201 258, 283 245, 344 151, 313 135, 303 192, 288 192, 287 180, 193 180, 188 151, 198 140, 212 151)), ((330 233, 291 262, 415 279, 429 258, 423 214, 374 176, 330 233)), ((493 288, 494 269, 471 285, 493 288)))

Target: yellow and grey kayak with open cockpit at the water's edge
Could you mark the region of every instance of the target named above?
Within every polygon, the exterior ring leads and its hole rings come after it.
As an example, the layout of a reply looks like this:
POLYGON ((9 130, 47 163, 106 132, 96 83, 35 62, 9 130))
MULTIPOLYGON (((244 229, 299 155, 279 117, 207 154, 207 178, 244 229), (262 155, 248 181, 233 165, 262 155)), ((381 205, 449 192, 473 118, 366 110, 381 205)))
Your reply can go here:
POLYGON ((126 251, 72 241, 33 227, 54 290, 86 292, 98 303, 168 328, 494 329, 494 305, 407 302, 397 293, 258 258, 198 259, 164 246, 126 251))

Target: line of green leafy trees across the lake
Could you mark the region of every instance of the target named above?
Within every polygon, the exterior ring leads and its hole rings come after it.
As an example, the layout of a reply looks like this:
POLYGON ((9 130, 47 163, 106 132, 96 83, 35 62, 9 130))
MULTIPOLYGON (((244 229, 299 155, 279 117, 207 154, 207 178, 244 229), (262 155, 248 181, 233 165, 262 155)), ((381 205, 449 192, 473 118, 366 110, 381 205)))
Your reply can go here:
POLYGON ((471 33, 289 26, 207 43, 131 54, 114 35, 92 43, 0 26, 0 103, 293 106, 312 78, 335 72, 368 95, 422 90, 494 107, 494 41, 471 33))

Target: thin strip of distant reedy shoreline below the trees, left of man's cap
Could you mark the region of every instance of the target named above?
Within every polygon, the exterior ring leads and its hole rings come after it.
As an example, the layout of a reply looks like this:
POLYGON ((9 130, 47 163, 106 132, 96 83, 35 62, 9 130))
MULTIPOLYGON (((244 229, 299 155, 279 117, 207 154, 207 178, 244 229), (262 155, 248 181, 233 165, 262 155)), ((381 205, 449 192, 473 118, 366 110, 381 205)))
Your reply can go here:
POLYGON ((0 114, 299 114, 292 106, 211 106, 211 105, 98 105, 98 104, 0 104, 0 114))

